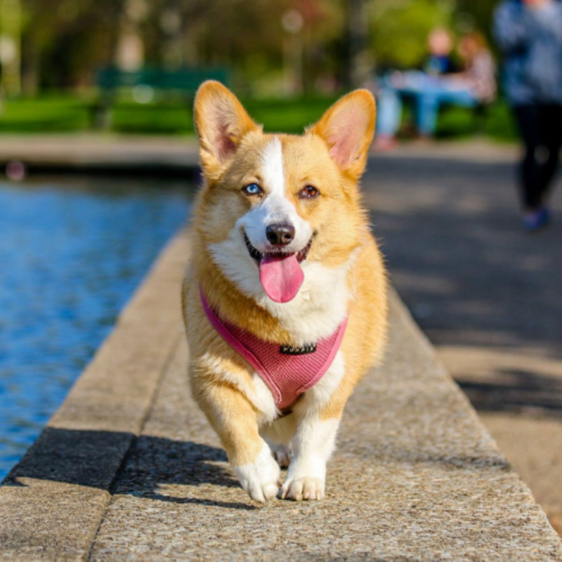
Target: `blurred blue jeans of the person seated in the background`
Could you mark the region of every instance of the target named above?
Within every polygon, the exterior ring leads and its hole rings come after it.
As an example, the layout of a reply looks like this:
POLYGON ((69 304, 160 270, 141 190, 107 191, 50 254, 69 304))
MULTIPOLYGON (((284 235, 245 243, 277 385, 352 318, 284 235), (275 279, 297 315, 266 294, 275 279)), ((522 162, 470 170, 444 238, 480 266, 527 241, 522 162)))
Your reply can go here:
POLYGON ((477 98, 469 89, 447 86, 446 79, 429 77, 423 72, 407 72, 403 82, 399 88, 386 78, 379 82, 377 133, 380 135, 396 135, 402 119, 403 98, 414 100, 417 129, 424 136, 435 133, 440 105, 478 105, 477 98))

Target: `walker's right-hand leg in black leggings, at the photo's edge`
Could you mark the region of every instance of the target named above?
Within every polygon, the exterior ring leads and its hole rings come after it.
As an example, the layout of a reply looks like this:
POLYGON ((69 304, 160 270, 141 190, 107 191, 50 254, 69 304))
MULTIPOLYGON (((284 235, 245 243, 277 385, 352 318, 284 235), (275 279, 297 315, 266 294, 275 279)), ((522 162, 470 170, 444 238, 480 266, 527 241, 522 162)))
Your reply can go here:
POLYGON ((545 105, 540 110, 540 145, 545 150, 540 164, 539 197, 544 205, 552 185, 562 145, 562 106, 545 105))

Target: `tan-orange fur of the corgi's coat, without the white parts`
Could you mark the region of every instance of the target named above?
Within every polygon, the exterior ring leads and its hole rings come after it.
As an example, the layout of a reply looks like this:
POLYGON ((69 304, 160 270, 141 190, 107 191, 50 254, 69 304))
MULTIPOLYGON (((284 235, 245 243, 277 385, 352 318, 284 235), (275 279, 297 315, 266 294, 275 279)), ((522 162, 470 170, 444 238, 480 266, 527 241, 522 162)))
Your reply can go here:
MULTIPOLYGON (((347 284, 348 327, 341 345, 345 375, 339 388, 317 412, 321 419, 339 418, 346 400, 363 374, 379 362, 386 334, 386 275, 367 214, 362 208, 358 179, 374 131, 374 100, 355 91, 330 108, 303 136, 278 135, 282 145, 287 198, 315 233, 307 261, 338 268, 351 263, 347 284), (362 119, 360 119, 362 117, 362 119), (356 126, 359 136, 346 137, 342 128, 356 126), (304 185, 321 195, 298 197, 304 185)), ((302 344, 277 318, 228 280, 214 262, 209 246, 226 240, 237 218, 256 201, 242 187, 261 183, 259 155, 271 141, 224 86, 207 82, 195 101, 204 185, 194 213, 192 262, 183 287, 183 312, 190 344, 192 392, 221 437, 233 466, 254 462, 263 447, 259 426, 270 423, 244 393, 251 387, 253 368, 211 327, 200 302, 200 288, 221 317, 280 344, 302 344)), ((344 131, 345 133, 345 131, 344 131)), ((256 275, 256 273, 253 273, 256 275)), ((318 290, 329 290, 319 287, 318 290)), ((306 318, 302 318, 306 322, 306 318)), ((294 416, 303 416, 302 400, 294 416)), ((290 426, 291 424, 288 424, 290 426)), ((292 424, 295 426, 296 424, 292 424)))

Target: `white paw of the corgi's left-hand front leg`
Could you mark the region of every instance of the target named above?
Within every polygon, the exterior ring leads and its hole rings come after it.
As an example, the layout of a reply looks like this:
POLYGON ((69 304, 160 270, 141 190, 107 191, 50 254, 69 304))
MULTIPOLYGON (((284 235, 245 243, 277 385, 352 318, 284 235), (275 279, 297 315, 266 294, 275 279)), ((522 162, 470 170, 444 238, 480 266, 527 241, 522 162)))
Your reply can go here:
POLYGON ((271 455, 267 445, 256 457, 254 462, 234 467, 236 476, 254 502, 265 504, 277 497, 280 483, 280 468, 271 455))

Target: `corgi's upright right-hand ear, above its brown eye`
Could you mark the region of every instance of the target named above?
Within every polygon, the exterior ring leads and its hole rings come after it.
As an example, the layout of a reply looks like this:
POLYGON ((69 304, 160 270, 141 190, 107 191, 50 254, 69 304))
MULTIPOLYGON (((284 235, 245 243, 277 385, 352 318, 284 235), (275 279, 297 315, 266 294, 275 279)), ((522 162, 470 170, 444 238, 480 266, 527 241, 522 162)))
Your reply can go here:
POLYGON ((334 162, 356 180, 367 163, 376 119, 370 91, 355 90, 334 103, 307 132, 322 137, 334 162))

